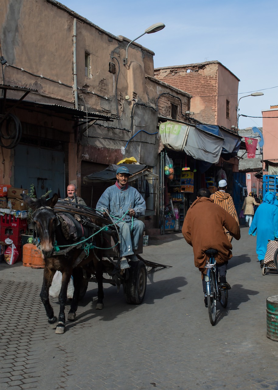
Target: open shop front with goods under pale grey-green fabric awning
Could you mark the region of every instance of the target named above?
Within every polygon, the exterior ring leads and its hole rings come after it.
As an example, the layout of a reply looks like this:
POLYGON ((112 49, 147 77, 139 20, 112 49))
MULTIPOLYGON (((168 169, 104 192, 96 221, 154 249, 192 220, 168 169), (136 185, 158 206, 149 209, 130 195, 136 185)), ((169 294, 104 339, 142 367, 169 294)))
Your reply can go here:
POLYGON ((168 121, 160 124, 160 233, 180 232, 185 215, 199 188, 217 190, 226 179, 233 190, 233 164, 230 157, 239 148, 238 136, 214 133, 197 125, 168 121))

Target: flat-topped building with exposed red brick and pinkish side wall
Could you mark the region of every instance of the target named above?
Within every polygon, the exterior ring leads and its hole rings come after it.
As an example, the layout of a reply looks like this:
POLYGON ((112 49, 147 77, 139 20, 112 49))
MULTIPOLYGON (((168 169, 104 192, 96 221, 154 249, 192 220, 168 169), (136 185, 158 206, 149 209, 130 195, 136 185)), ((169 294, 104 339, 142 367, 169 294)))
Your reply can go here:
POLYGON ((219 61, 156 68, 155 77, 192 95, 190 111, 198 121, 237 126, 240 80, 219 61))

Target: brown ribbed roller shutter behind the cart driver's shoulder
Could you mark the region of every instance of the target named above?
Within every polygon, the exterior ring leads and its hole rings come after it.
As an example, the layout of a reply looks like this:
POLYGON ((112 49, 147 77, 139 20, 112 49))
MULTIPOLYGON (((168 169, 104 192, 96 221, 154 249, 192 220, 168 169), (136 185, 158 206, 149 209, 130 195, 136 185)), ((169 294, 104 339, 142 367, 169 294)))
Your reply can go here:
MULTIPOLYGON (((92 163, 91 161, 81 161, 81 198, 87 206, 95 209, 97 202, 104 190, 113 183, 83 183, 83 177, 90 175, 93 172, 99 172, 107 168, 107 164, 92 163)), ((116 177, 115 177, 116 181, 116 177)))

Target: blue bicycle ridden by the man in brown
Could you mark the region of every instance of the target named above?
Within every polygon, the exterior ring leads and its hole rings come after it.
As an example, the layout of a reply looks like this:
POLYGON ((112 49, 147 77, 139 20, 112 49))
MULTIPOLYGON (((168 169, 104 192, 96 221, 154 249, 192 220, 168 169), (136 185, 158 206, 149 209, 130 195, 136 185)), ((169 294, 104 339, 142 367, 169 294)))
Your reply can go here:
POLYGON ((218 253, 216 249, 208 249, 205 254, 208 255, 209 259, 206 268, 206 294, 208 297, 208 312, 209 321, 211 325, 216 323, 216 300, 218 300, 222 307, 226 307, 228 304, 228 290, 225 287, 220 287, 218 267, 215 261, 215 255, 218 253))

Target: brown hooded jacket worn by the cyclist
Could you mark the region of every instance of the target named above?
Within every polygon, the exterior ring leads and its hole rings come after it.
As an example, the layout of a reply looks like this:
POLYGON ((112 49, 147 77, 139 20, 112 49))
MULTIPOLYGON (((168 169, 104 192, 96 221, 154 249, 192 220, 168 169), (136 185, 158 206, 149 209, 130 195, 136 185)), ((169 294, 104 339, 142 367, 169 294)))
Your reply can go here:
POLYGON ((223 264, 232 257, 232 244, 223 227, 235 239, 240 239, 238 222, 210 198, 197 198, 187 211, 181 231, 188 244, 193 246, 194 264, 202 273, 207 261, 205 250, 218 250, 215 256, 217 264, 223 264))

